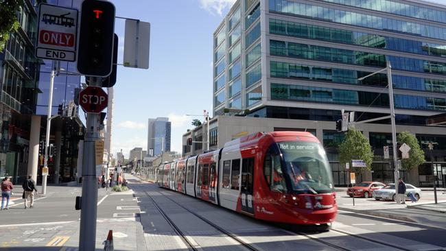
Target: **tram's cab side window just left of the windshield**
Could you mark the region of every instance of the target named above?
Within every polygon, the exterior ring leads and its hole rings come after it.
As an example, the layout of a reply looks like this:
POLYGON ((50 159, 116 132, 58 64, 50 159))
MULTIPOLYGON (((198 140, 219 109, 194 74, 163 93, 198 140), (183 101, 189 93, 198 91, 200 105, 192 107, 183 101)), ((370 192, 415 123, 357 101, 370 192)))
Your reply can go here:
POLYGON ((286 192, 286 183, 281 169, 281 158, 275 151, 268 150, 263 173, 271 191, 286 192))

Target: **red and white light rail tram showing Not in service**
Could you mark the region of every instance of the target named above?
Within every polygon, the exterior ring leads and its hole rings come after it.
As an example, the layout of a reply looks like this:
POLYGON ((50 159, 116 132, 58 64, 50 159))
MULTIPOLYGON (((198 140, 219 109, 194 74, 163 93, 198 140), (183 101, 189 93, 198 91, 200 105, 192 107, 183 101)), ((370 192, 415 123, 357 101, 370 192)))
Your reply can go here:
POLYGON ((329 224, 338 211, 325 150, 309 132, 257 132, 157 168, 159 187, 268 222, 329 224))

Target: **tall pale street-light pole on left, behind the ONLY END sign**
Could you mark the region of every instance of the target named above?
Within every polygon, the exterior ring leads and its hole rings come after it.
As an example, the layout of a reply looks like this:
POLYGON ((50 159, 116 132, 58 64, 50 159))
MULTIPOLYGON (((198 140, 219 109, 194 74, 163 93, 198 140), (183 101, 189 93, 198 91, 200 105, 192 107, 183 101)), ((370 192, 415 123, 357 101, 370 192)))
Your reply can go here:
MULTIPOLYGON (((49 77, 49 95, 48 95, 48 113, 47 113, 47 134, 45 135, 45 156, 43 158, 43 167, 48 170, 48 154, 49 154, 49 134, 51 133, 51 108, 53 106, 53 89, 54 89, 54 77, 58 65, 56 60, 53 60, 51 69, 51 76, 49 77)), ((47 175, 42 176, 42 194, 47 193, 47 175)))

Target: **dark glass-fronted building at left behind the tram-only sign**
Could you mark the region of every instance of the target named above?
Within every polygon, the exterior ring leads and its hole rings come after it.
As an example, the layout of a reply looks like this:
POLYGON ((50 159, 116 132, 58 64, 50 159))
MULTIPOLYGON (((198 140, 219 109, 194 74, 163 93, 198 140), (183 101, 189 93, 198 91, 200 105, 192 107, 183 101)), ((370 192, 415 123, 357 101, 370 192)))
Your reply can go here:
MULTIPOLYGON (((0 53, 0 176, 12 176, 20 183, 28 174, 40 182, 43 156, 39 142, 45 141, 51 60, 34 57, 37 39, 38 2, 25 0, 17 13, 20 27, 0 53)), ((79 8, 80 0, 50 0, 49 4, 79 8)), ((80 76, 75 64, 62 62, 60 74, 54 80, 53 110, 66 108, 74 99, 75 88, 80 87, 80 76)), ((48 182, 75 179, 77 171, 78 141, 83 139, 84 125, 73 119, 58 117, 51 121, 50 143, 56 145, 56 156, 49 161, 48 182)))

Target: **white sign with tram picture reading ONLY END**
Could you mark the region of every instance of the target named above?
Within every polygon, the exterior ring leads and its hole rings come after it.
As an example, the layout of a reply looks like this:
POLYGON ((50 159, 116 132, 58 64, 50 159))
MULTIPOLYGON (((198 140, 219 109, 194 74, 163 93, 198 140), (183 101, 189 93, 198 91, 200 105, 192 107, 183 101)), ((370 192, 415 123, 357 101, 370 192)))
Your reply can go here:
POLYGON ((40 3, 36 58, 74 62, 78 10, 40 3))

